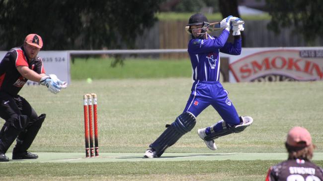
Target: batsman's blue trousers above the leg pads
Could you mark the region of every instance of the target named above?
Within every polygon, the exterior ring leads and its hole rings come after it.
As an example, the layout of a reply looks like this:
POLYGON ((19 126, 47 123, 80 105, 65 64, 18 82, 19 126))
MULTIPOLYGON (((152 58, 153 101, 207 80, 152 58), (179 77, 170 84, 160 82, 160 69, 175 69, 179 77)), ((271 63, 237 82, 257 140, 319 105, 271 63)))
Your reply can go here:
POLYGON ((228 91, 219 81, 195 81, 183 112, 190 112, 197 117, 209 105, 214 107, 227 124, 240 124, 239 115, 228 97, 228 91))

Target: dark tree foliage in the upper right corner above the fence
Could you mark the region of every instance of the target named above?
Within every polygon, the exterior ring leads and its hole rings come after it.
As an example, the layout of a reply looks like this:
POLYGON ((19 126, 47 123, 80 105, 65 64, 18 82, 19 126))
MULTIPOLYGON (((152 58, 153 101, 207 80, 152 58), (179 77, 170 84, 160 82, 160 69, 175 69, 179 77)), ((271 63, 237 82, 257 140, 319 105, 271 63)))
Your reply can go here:
POLYGON ((266 0, 271 21, 268 29, 279 33, 280 28, 294 26, 305 40, 313 41, 323 34, 322 0, 266 0))

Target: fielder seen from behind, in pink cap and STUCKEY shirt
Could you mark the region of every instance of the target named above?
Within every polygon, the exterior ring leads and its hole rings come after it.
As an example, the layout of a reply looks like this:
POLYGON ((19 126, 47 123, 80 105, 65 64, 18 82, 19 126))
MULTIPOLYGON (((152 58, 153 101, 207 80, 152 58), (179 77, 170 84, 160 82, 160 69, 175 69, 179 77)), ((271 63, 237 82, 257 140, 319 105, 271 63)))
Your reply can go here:
POLYGON ((310 161, 315 145, 305 128, 292 128, 285 145, 288 160, 270 167, 266 181, 323 181, 322 168, 310 161))

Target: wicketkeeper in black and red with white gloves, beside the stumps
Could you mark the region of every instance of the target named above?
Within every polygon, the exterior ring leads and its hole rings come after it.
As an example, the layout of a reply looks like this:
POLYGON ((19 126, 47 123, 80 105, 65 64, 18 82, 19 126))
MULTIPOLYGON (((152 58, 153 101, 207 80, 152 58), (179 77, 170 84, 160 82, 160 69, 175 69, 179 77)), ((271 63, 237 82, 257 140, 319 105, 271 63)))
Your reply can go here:
POLYGON ((27 80, 39 82, 53 93, 58 93, 67 83, 56 75, 46 75, 42 59, 37 56, 43 41, 39 35, 29 34, 20 47, 10 49, 0 62, 0 117, 5 123, 0 130, 0 161, 9 161, 6 151, 16 139, 12 159, 36 159, 28 152, 46 115, 37 115, 28 101, 18 95, 27 80))

